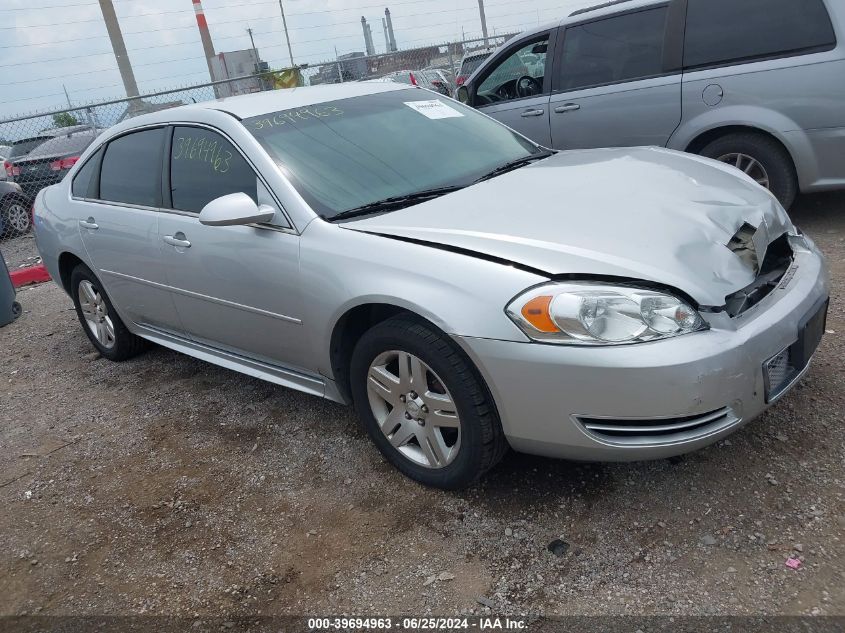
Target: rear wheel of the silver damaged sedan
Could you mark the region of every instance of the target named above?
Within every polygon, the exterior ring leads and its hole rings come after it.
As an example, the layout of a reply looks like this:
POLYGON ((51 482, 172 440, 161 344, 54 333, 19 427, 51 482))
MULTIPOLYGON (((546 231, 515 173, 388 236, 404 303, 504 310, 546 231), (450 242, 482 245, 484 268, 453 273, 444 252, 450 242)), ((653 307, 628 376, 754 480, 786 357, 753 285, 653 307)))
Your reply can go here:
POLYGON ((79 264, 70 276, 71 297, 76 316, 91 343, 102 356, 126 360, 146 348, 146 341, 126 329, 94 273, 79 264))

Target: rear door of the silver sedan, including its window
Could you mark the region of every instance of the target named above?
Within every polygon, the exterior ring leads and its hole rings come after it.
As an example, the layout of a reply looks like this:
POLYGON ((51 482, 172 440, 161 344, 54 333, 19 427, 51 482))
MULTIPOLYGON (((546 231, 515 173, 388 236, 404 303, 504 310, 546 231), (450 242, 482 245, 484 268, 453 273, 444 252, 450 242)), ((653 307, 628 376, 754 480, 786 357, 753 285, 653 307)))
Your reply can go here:
POLYGON ((74 177, 73 208, 97 277, 123 319, 181 330, 158 239, 165 128, 110 141, 74 177))

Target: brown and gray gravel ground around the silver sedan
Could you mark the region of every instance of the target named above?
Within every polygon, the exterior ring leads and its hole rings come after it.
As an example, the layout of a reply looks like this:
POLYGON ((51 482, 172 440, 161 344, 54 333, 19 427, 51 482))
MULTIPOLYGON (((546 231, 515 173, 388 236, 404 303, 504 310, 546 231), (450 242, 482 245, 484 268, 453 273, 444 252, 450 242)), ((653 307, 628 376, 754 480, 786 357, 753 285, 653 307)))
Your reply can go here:
POLYGON ((110 363, 55 285, 22 291, 0 614, 845 614, 845 195, 793 216, 833 293, 775 408, 673 460, 511 454, 460 493, 402 477, 344 407, 163 349, 110 363))

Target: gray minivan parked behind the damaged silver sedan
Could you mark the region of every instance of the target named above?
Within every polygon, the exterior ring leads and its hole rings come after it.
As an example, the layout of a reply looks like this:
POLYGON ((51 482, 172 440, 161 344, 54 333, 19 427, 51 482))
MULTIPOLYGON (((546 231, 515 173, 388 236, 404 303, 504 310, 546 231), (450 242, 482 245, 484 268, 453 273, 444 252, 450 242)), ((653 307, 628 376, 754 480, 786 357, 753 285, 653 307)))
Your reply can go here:
POLYGON ((721 160, 789 207, 845 188, 843 40, 842 0, 617 0, 513 38, 457 96, 548 147, 721 160))

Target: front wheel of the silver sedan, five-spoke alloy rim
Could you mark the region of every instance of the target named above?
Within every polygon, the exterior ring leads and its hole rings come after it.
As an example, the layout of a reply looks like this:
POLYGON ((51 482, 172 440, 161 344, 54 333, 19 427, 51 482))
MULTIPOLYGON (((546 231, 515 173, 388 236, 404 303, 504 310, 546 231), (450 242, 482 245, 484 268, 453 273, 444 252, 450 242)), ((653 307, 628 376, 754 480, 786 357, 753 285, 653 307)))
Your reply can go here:
POLYGON ((468 486, 507 450, 492 398, 449 338, 413 316, 367 331, 350 364, 352 398, 382 454, 427 486, 468 486))

